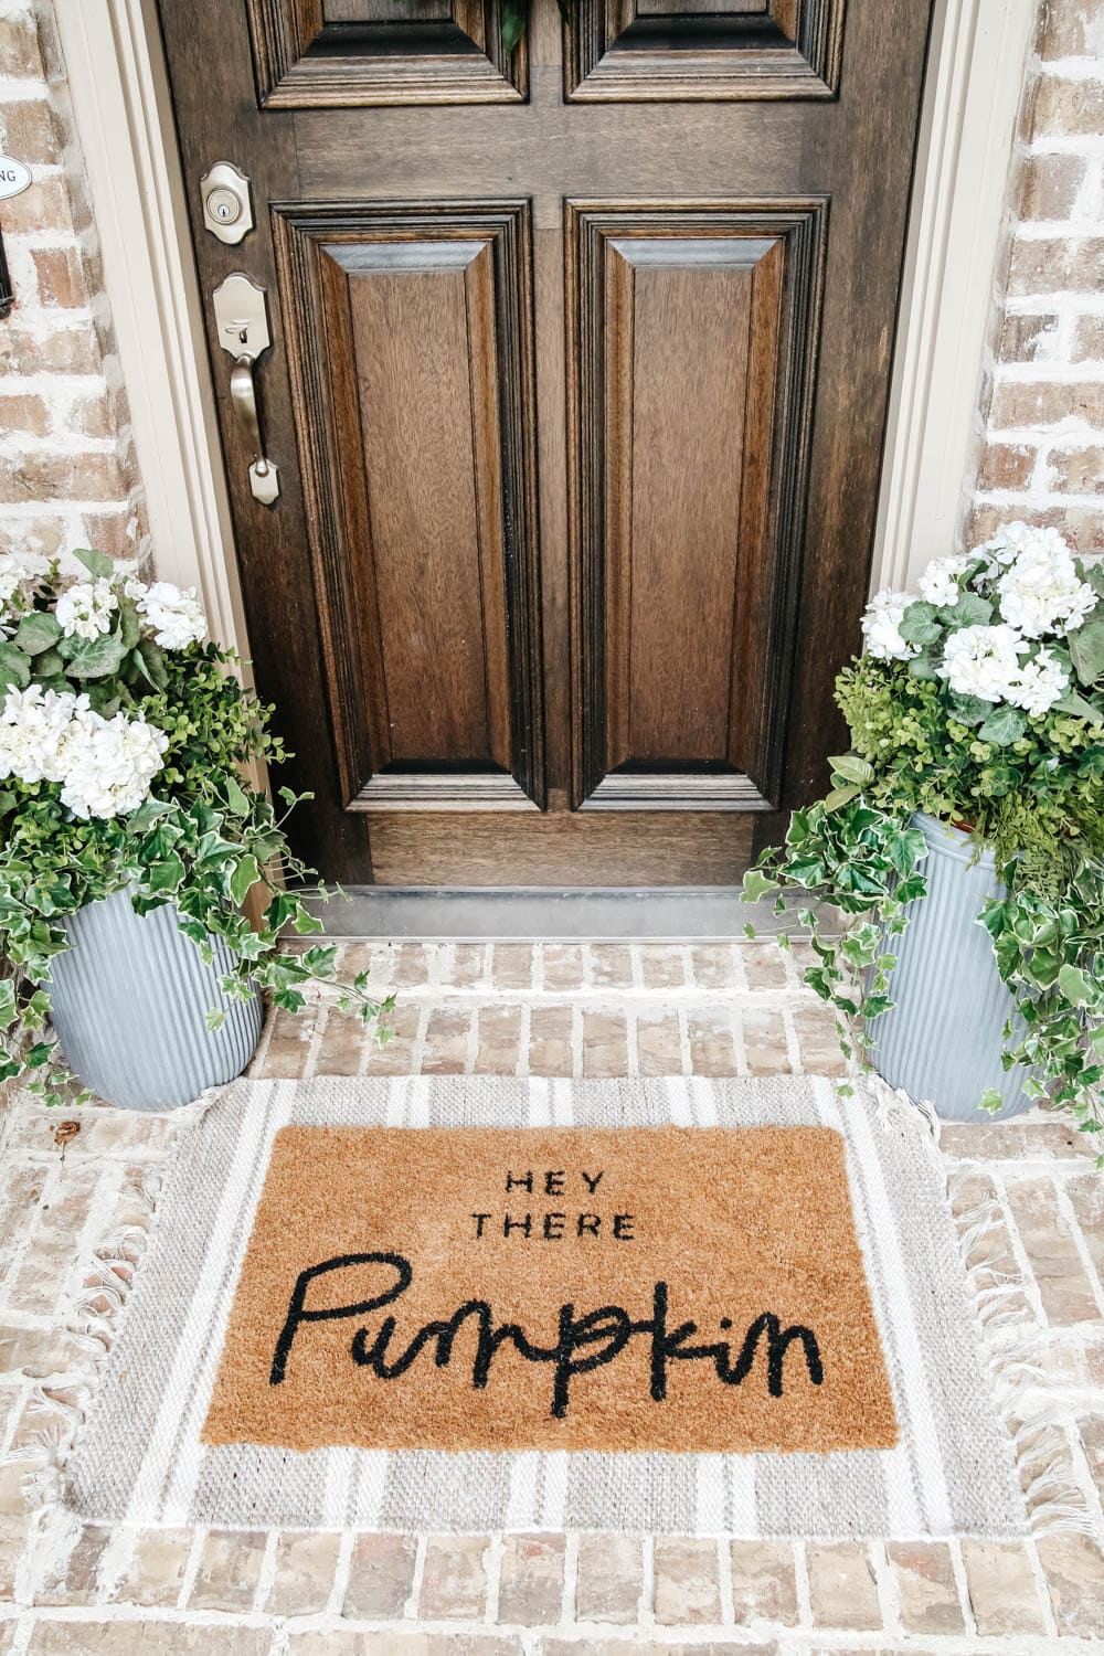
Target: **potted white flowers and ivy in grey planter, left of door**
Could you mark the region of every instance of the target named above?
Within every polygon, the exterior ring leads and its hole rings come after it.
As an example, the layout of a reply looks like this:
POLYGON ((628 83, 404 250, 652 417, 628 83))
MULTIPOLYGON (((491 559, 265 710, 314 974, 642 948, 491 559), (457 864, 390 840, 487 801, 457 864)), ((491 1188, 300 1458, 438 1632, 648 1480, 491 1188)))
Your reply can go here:
MULTIPOLYGON (((238 1075, 262 992, 300 1010, 336 947, 280 946, 323 927, 280 881, 310 869, 248 777, 286 758, 271 709, 192 593, 74 556, 88 578, 0 556, 0 1080, 166 1108, 238 1075)), ((391 1002, 361 974, 339 1005, 379 1030, 391 1002)))

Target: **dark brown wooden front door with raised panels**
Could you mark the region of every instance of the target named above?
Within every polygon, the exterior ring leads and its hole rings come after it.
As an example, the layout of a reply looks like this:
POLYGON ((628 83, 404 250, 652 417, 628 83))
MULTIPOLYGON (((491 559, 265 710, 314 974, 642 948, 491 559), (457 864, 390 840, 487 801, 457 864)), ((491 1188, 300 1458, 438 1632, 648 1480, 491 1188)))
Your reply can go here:
POLYGON ((257 679, 328 878, 728 883, 841 739, 929 3, 566 3, 506 55, 500 0, 161 0, 257 679))

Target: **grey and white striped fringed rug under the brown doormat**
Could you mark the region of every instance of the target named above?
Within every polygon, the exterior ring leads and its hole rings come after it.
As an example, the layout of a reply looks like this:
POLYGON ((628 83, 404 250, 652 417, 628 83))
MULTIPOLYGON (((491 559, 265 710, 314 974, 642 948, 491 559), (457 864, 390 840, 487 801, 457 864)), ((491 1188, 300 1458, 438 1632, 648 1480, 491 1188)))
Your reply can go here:
MULTIPOLYGON (((293 1187, 281 1199, 298 1201, 293 1187)), ((324 1207, 324 1192, 311 1199, 324 1207)), ((348 1326, 351 1335, 354 1323, 348 1326)), ((346 1427, 346 1436, 372 1441, 371 1431, 346 1427)), ((245 1528, 598 1528, 742 1538, 1026 1530, 925 1118, 907 1105, 886 1108, 864 1088, 841 1100, 829 1080, 806 1076, 434 1076, 227 1088, 182 1131, 149 1249, 68 1459, 66 1500, 96 1520, 245 1528), (897 1426, 881 1441, 892 1447, 674 1452, 649 1449, 646 1426, 621 1451, 358 1447, 343 1441, 339 1419, 329 1434, 308 1423, 308 1441, 318 1446, 306 1449, 271 1436, 222 1441, 233 1436, 225 1423, 215 1442, 205 1441, 273 1141, 281 1128, 313 1126, 412 1134, 497 1128, 513 1129, 515 1141, 523 1128, 838 1133, 897 1426)))

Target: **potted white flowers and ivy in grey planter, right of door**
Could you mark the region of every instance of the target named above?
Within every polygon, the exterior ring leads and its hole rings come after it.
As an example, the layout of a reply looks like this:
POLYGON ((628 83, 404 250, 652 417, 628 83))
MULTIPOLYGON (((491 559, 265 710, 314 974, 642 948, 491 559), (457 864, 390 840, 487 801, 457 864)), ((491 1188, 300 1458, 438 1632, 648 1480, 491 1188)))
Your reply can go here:
POLYGON ((958 1119, 1048 1095, 1101 1126, 1104 568, 1008 523, 879 593, 836 681, 852 749, 745 876, 796 888, 847 1057, 958 1119))

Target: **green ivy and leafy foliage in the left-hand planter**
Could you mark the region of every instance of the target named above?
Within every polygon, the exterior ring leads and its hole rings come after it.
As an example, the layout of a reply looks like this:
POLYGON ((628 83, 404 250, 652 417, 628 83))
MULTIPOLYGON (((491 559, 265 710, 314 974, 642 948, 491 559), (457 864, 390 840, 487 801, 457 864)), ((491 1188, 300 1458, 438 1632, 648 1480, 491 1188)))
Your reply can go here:
MULTIPOLYGON (((99 555, 84 555, 96 573, 89 556, 99 555)), ((31 619, 38 621, 38 611, 31 619)), ((45 611, 41 619, 50 619, 45 611)), ((38 644, 50 629, 28 631, 30 643, 38 644)), ((298 1010, 306 985, 336 979, 331 946, 301 954, 280 951, 281 929, 306 936, 321 931, 321 922, 303 901, 311 871, 288 851, 286 813, 278 816, 245 780, 252 760, 286 758, 268 732, 271 709, 242 689, 233 676, 235 657, 215 644, 172 652, 151 641, 134 647, 124 609, 111 634, 78 643, 106 639, 114 641, 111 656, 118 657, 116 667, 98 679, 106 702, 126 704, 169 737, 151 798, 129 816, 84 820, 61 805, 56 783, 10 778, 0 792, 0 949, 13 974, 0 980, 0 1078, 23 1075, 30 1091, 48 1103, 71 1096, 73 1078, 46 1035, 50 997, 41 985, 50 980, 53 957, 66 947, 66 917, 113 891, 132 886, 139 914, 174 903, 182 931, 207 956, 212 936, 225 939, 237 957, 222 980, 232 999, 248 999, 260 989, 276 1005, 298 1010), (139 652, 144 672, 136 664, 139 652), (280 873, 295 889, 280 881, 280 873), (255 886, 263 891, 263 921, 250 926, 242 903, 255 886)), ((26 647, 28 641, 22 643, 26 647)), ((41 664, 43 652, 31 659, 41 664)), ((94 657, 86 649, 70 651, 71 677, 55 687, 88 689, 89 661, 96 666, 106 652, 94 657)), ((288 810, 300 803, 286 788, 280 797, 288 810)), ((386 1040, 381 1020, 392 999, 374 1000, 362 979, 338 989, 338 1005, 376 1025, 377 1038, 386 1040)), ((218 1013, 209 1023, 217 1027, 218 1013)))

